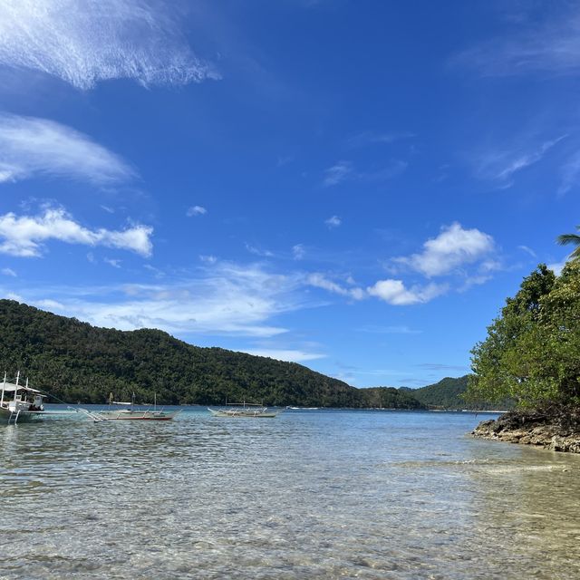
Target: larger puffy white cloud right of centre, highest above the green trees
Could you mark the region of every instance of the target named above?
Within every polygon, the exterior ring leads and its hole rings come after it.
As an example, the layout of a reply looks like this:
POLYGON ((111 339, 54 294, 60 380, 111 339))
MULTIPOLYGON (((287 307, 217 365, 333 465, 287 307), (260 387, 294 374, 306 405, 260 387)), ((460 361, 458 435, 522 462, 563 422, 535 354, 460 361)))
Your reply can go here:
POLYGON ((438 237, 423 244, 420 254, 394 258, 423 275, 446 275, 466 264, 486 258, 494 249, 493 237, 478 229, 463 229, 457 222, 442 227, 438 237))

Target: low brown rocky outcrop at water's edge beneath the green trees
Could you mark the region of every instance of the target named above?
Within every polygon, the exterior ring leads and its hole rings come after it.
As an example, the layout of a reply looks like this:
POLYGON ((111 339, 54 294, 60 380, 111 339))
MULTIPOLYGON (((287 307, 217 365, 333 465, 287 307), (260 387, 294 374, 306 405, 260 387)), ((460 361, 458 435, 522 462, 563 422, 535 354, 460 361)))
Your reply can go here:
POLYGON ((472 435, 482 439, 536 445, 553 451, 580 453, 580 410, 510 411, 484 420, 472 435))

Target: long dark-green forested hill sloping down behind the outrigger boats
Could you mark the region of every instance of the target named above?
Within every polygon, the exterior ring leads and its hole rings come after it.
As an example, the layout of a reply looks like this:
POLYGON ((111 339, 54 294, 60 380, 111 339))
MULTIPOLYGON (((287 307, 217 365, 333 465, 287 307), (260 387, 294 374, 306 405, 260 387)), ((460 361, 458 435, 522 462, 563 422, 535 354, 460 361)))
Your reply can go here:
POLYGON ((420 408, 396 389, 356 389, 295 362, 201 348, 158 330, 122 332, 0 300, 0 361, 64 401, 420 408))

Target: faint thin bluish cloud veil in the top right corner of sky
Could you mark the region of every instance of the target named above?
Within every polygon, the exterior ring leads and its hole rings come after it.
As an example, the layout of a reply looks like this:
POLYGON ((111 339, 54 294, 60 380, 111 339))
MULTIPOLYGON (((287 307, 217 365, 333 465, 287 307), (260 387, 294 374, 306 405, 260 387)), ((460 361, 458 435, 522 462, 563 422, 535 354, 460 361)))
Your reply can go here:
POLYGON ((473 68, 483 76, 575 75, 580 72, 580 13, 575 8, 543 24, 527 24, 508 36, 469 48, 452 63, 473 68))

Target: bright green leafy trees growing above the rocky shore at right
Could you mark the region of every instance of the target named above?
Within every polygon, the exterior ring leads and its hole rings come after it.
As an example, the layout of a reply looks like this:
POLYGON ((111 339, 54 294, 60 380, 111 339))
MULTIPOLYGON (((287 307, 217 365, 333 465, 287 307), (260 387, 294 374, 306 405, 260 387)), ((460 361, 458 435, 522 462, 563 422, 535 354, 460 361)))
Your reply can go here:
POLYGON ((537 266, 472 351, 469 397, 520 406, 580 401, 580 263, 537 266))

